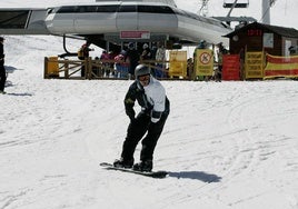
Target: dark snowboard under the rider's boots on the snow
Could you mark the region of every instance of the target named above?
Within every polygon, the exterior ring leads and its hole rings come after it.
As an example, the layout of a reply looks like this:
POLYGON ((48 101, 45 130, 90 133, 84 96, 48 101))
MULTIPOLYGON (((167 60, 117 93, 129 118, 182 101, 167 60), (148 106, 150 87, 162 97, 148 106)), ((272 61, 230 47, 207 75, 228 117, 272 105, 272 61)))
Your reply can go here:
POLYGON ((163 170, 146 172, 146 171, 132 170, 130 168, 115 167, 112 163, 109 163, 109 162, 101 162, 100 166, 107 170, 119 170, 122 172, 130 172, 130 173, 135 173, 135 175, 141 175, 145 177, 151 177, 151 178, 158 178, 158 179, 162 179, 162 178, 167 177, 167 175, 168 175, 168 172, 163 171, 163 170))

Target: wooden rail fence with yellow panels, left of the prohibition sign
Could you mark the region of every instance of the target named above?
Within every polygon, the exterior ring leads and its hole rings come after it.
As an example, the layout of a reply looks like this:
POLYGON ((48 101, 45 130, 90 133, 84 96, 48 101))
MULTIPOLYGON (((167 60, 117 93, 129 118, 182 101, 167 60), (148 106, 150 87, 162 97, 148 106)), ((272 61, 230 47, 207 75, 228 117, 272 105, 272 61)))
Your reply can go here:
MULTIPOLYGON (((142 60, 140 63, 148 66, 152 73, 162 72, 159 79, 177 79, 169 77, 187 78, 187 60, 156 61, 142 60), (182 63, 182 64, 181 64, 182 63), (177 67, 178 66, 178 67, 177 67), (168 68, 169 67, 169 68, 168 68)), ((44 58, 44 79, 130 79, 129 63, 117 63, 112 60, 67 60, 58 57, 44 58)))

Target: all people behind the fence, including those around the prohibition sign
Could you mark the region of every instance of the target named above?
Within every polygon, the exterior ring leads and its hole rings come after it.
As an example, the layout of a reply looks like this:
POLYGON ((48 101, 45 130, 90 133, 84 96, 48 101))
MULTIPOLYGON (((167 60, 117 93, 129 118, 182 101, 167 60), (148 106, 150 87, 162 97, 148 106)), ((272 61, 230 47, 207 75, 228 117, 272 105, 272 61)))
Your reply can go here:
MULTIPOLYGON (((82 54, 89 57, 89 44, 83 44, 82 54)), ((197 49, 209 49, 206 41, 200 41, 197 49)), ((222 73, 222 56, 227 53, 227 50, 222 43, 216 46, 216 66, 213 76, 203 78, 203 80, 221 80, 222 73)), ((85 58, 80 58, 85 59, 85 58)), ((168 68, 166 64, 166 47, 161 42, 152 43, 151 47, 148 43, 129 42, 125 44, 123 49, 115 53, 113 51, 103 50, 100 57, 96 60, 99 61, 101 68, 96 68, 93 74, 100 78, 123 78, 135 79, 135 69, 139 63, 146 63, 150 66, 151 73, 157 79, 168 78, 168 68)), ((187 60, 187 77, 192 78, 195 73, 195 59, 189 58, 187 60)), ((85 69, 82 68, 82 77, 85 76, 85 69)))

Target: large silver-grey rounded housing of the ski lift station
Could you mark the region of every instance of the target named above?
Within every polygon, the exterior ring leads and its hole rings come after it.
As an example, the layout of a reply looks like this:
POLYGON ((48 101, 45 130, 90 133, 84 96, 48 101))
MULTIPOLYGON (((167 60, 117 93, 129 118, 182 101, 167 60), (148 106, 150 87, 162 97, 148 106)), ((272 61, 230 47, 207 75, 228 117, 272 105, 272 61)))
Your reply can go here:
POLYGON ((43 9, 0 9, 0 34, 77 37, 111 50, 127 41, 228 44, 222 36, 231 31, 220 20, 177 8, 173 0, 97 0, 43 9))

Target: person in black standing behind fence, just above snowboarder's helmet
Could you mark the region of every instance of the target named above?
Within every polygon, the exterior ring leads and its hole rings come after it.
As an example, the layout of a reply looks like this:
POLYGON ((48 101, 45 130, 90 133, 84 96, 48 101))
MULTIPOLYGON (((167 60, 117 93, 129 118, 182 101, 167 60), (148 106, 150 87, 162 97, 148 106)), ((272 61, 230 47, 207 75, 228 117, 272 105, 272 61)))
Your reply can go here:
POLYGON ((140 54, 138 52, 138 50, 135 48, 135 43, 130 42, 128 43, 128 50, 127 50, 127 60, 129 61, 129 77, 135 79, 135 69, 138 66, 140 60, 140 54))

